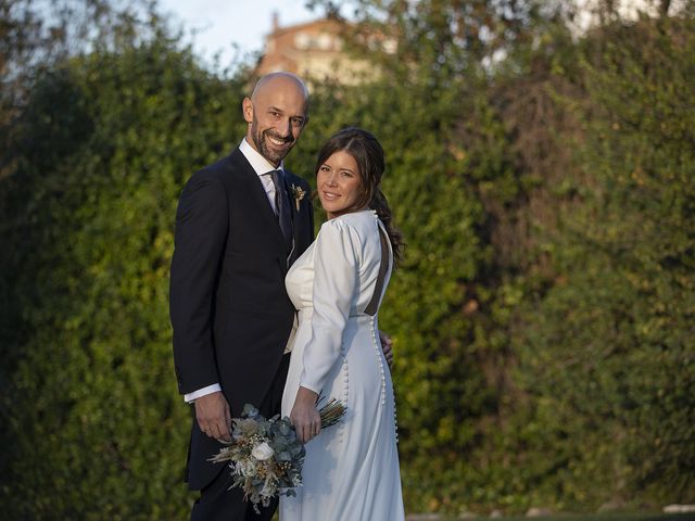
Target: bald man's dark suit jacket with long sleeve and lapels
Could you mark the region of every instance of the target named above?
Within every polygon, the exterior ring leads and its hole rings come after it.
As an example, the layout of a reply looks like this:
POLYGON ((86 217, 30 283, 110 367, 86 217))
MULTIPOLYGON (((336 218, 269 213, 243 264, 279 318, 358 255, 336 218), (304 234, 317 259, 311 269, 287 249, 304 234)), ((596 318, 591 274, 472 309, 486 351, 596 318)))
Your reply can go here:
MULTIPOLYGON (((291 263, 313 240, 313 213, 306 181, 286 170, 286 186, 295 244, 291 263), (305 192, 299 211, 292 185, 305 192)), ((294 319, 285 290, 287 266, 277 217, 239 149, 190 178, 176 213, 169 293, 181 394, 218 382, 232 418, 245 403, 260 406, 294 319)), ((219 472, 219 463, 207 461, 219 448, 193 415, 187 466, 191 488, 202 488, 219 472)))

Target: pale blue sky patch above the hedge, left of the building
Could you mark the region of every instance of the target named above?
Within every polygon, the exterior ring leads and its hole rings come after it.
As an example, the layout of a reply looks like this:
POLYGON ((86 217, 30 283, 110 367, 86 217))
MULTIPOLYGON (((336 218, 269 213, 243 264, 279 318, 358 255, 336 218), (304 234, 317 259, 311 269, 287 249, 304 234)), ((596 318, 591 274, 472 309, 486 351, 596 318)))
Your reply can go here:
POLYGON ((222 64, 235 55, 232 43, 243 53, 261 51, 264 36, 273 26, 273 13, 280 26, 318 17, 304 7, 305 0, 160 0, 160 11, 182 25, 187 41, 205 59, 222 52, 222 64))

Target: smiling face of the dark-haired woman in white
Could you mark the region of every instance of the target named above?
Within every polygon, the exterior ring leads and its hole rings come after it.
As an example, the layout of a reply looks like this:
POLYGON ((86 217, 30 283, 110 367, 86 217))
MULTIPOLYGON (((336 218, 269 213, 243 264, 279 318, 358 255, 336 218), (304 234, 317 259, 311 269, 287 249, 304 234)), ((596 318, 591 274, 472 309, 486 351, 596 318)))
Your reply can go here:
POLYGON ((326 160, 316 174, 316 186, 318 199, 329 219, 362 209, 355 207, 364 195, 359 169, 355 158, 348 152, 338 151, 326 160))

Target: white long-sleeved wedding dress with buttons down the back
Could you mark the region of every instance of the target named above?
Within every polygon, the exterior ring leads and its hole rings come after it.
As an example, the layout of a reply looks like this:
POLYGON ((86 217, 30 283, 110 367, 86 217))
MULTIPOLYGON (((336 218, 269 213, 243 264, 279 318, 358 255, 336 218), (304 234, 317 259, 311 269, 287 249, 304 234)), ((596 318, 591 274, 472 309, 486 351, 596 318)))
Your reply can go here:
POLYGON ((404 519, 393 387, 375 313, 393 264, 386 237, 372 211, 336 217, 287 275, 299 326, 282 416, 300 385, 342 401, 348 412, 306 444, 303 485, 280 498, 280 521, 404 519))

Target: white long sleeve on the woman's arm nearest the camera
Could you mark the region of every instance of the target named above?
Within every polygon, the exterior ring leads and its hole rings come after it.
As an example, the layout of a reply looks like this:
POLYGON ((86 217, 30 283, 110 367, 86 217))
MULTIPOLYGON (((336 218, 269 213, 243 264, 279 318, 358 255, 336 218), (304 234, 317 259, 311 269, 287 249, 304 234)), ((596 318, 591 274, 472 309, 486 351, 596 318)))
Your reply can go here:
POLYGON ((300 385, 320 394, 340 356, 357 291, 361 249, 356 231, 338 218, 325 223, 314 255, 312 340, 304 350, 300 385))

